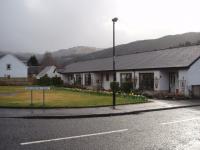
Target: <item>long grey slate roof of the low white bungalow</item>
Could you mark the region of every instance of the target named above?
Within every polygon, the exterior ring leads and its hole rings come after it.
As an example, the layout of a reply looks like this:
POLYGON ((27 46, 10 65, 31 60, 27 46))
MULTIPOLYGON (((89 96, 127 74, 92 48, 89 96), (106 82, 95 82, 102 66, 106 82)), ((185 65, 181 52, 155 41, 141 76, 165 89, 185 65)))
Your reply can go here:
MULTIPOLYGON (((116 57, 116 70, 189 67, 199 57, 200 46, 135 53, 116 57)), ((63 73, 108 70, 112 70, 112 57, 73 63, 63 73)))

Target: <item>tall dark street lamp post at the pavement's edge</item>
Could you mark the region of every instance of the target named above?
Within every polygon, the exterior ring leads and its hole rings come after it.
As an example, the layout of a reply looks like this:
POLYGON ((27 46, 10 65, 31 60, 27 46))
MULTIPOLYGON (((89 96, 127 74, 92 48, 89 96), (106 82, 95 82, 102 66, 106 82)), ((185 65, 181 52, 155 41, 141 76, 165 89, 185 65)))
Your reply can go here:
POLYGON ((113 18, 113 109, 115 109, 116 105, 116 93, 115 93, 115 84, 116 84, 116 71, 115 71, 115 22, 117 22, 118 18, 113 18))

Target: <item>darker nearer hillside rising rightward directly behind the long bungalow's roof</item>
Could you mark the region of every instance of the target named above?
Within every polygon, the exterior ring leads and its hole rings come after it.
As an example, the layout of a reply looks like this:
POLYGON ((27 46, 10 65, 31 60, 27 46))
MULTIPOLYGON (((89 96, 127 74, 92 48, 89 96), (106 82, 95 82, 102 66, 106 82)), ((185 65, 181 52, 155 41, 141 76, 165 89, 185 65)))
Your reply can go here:
MULTIPOLYGON (((116 46, 116 55, 117 56, 127 55, 144 51, 179 47, 179 46, 184 46, 185 43, 189 43, 189 45, 190 44, 192 45, 193 43, 199 44, 200 33, 189 32, 184 34, 168 35, 158 39, 141 40, 141 41, 131 42, 128 44, 118 45, 116 46)), ((112 47, 94 53, 90 53, 85 56, 75 57, 73 59, 73 62, 84 61, 89 59, 105 58, 111 56, 112 56, 112 47)))

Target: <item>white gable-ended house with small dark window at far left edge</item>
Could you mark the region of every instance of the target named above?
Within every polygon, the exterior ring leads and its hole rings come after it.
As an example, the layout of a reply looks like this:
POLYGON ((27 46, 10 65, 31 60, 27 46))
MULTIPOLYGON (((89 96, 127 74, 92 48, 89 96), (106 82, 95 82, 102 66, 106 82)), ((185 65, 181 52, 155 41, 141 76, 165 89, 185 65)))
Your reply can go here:
POLYGON ((0 78, 27 78, 28 67, 17 57, 5 55, 0 58, 0 78))

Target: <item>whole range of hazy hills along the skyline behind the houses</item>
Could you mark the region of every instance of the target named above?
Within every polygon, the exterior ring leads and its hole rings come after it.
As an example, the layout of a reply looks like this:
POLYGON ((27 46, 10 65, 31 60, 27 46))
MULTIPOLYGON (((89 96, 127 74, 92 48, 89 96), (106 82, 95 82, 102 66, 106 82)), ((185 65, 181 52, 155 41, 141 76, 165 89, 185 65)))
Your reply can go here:
MULTIPOLYGON (((127 55, 138 52, 166 49, 172 47, 187 46, 200 44, 200 32, 189 32, 177 35, 168 35, 158 39, 135 41, 128 44, 116 46, 116 55, 127 55)), ((8 52, 0 51, 0 55, 7 54, 8 52)), ((22 60, 28 60, 34 53, 14 53, 22 60)), ((40 61, 43 54, 35 54, 40 61)), ((52 52, 58 64, 62 66, 90 59, 98 59, 112 56, 112 47, 106 49, 99 49, 95 47, 77 46, 69 49, 60 49, 52 52)))

